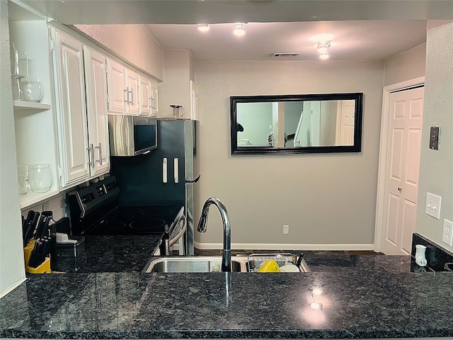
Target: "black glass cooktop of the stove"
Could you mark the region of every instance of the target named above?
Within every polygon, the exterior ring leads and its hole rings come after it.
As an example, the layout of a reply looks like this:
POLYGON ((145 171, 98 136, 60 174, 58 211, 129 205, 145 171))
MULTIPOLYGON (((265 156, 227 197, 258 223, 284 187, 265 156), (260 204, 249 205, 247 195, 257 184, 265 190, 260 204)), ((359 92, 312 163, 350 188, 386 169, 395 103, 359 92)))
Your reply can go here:
POLYGON ((85 234, 134 235, 168 232, 181 207, 118 207, 85 234))

